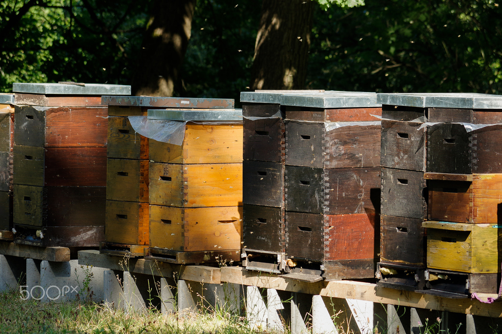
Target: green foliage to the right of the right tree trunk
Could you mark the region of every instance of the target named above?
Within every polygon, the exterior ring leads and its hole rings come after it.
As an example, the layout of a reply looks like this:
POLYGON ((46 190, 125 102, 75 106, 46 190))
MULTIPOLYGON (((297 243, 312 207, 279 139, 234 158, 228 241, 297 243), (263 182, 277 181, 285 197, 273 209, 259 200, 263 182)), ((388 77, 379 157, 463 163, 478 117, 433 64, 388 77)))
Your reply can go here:
POLYGON ((310 88, 502 92, 492 0, 374 0, 315 13, 310 88))

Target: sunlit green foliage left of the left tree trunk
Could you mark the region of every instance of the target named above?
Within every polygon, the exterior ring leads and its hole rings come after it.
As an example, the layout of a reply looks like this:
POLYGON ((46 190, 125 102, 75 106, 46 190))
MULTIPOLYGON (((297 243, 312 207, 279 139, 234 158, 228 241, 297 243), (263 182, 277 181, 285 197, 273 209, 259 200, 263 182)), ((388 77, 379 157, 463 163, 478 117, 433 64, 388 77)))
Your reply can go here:
POLYGON ((129 83, 149 1, 0 2, 0 91, 13 82, 129 83))

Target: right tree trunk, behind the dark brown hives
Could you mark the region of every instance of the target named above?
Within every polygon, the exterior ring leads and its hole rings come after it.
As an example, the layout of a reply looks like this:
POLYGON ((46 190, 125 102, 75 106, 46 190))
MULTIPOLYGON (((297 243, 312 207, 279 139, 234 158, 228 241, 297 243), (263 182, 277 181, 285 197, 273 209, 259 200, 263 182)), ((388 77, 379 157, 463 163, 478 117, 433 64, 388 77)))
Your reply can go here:
POLYGON ((264 0, 251 69, 252 89, 302 89, 314 2, 264 0))

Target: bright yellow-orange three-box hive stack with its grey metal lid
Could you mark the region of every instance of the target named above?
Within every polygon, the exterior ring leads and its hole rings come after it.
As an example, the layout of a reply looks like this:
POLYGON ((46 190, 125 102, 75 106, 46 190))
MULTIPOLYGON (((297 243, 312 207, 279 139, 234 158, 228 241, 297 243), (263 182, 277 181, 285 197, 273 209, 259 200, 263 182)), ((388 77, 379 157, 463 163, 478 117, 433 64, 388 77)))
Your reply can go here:
POLYGON ((147 257, 173 263, 239 261, 242 110, 151 109, 148 119, 173 135, 150 140, 147 257))

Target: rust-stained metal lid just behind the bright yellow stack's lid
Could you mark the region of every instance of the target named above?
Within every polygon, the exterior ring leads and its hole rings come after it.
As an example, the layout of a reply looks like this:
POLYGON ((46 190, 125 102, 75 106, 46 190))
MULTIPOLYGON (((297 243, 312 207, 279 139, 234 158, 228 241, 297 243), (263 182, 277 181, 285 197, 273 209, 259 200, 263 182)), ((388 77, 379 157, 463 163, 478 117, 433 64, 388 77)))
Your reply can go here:
POLYGON ((168 108, 233 109, 233 98, 166 97, 166 96, 101 96, 103 105, 147 106, 168 108))

